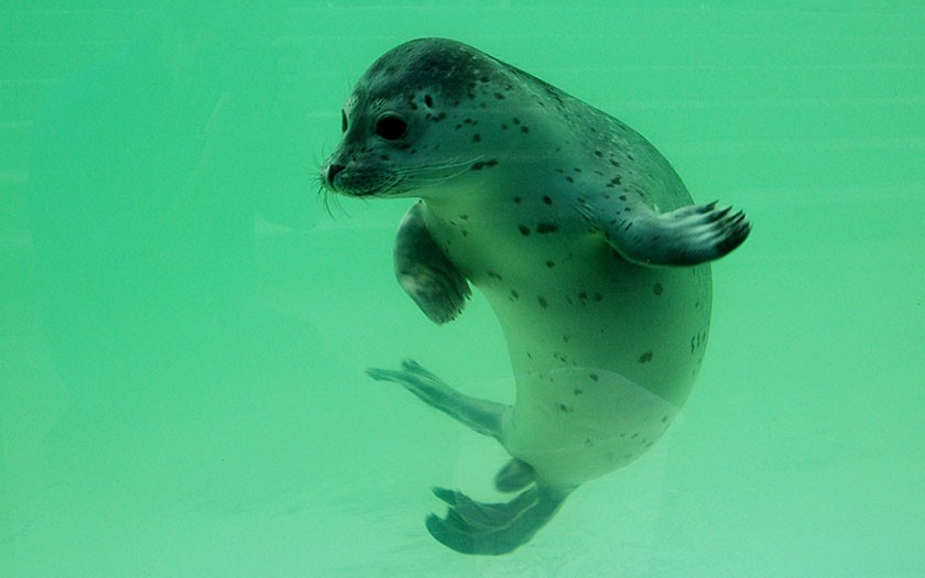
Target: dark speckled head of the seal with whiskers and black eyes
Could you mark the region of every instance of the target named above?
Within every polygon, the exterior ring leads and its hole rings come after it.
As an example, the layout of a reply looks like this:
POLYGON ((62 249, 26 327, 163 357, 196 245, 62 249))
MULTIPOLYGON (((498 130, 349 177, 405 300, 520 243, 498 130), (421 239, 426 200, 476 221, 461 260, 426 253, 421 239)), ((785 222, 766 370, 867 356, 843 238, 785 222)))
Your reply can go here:
POLYGON ((518 86, 513 69, 465 44, 403 44, 379 58, 348 98, 344 137, 322 179, 355 197, 407 197, 435 184, 446 194, 449 181, 465 188, 467 172, 492 165, 487 155, 502 144, 501 127, 519 130, 489 106, 518 86))

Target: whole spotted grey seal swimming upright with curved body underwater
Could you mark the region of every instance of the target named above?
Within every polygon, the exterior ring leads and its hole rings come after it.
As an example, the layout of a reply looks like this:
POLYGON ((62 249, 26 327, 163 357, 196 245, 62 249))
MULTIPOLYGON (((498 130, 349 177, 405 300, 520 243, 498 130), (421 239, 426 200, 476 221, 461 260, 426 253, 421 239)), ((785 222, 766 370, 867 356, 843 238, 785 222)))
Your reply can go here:
POLYGON ((709 261, 751 225, 695 205, 668 162, 607 113, 471 46, 402 44, 358 81, 320 168, 349 197, 420 198, 394 248, 404 291, 437 324, 478 287, 504 334, 512 406, 468 396, 413 361, 370 369, 474 430, 511 461, 505 503, 435 489, 427 528, 461 553, 526 543, 581 483, 665 432, 700 368, 709 261))

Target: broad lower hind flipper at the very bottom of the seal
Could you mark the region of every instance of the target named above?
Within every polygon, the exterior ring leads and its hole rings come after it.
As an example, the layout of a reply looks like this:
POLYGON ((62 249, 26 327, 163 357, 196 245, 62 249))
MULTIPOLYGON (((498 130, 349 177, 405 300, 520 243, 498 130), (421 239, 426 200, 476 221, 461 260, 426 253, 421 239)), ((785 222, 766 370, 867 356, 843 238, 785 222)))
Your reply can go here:
POLYGON ((449 509, 445 517, 427 517, 431 535, 461 554, 508 554, 526 544, 556 513, 572 489, 537 484, 507 503, 476 502, 468 495, 437 488, 434 494, 449 509))

